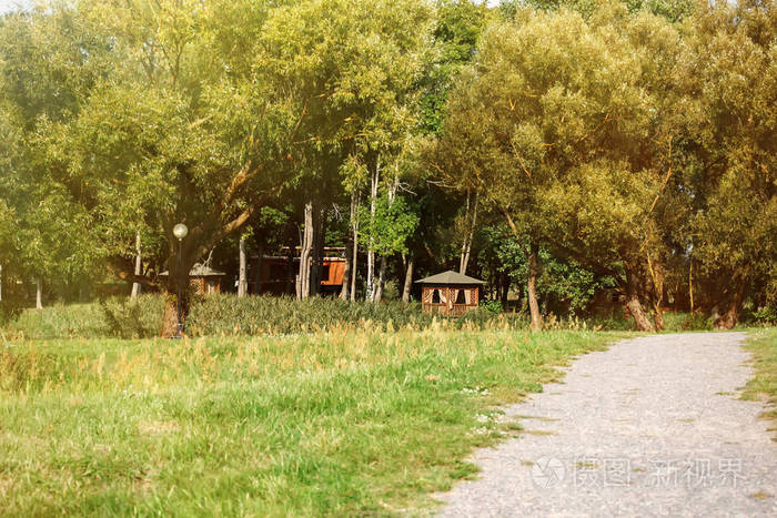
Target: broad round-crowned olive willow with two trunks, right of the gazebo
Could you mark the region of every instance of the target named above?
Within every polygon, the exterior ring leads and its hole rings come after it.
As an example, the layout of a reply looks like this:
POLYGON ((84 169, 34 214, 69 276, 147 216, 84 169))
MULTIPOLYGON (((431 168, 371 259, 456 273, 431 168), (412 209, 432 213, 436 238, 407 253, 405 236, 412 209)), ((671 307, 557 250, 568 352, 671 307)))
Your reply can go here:
POLYGON ((437 166, 503 214, 528 260, 534 328, 541 245, 613 275, 637 327, 653 328, 643 305, 662 292, 677 205, 664 115, 677 44, 666 20, 617 2, 587 20, 521 10, 486 31, 454 91, 437 166))

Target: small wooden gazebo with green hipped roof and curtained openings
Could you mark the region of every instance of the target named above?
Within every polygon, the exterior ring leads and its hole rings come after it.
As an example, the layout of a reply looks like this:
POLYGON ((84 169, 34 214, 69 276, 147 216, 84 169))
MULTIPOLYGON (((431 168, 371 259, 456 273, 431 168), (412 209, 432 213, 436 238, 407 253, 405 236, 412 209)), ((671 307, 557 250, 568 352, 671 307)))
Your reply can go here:
POLYGON ((481 286, 485 284, 450 270, 416 283, 422 285, 423 309, 445 316, 462 316, 470 309, 477 309, 481 286))

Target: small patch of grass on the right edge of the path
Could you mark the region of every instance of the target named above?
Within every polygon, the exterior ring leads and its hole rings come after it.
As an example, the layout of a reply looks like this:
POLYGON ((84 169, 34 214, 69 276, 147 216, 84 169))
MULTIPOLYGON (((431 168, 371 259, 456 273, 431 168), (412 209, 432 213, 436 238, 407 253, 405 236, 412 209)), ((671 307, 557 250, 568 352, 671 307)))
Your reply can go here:
POLYGON ((753 355, 755 377, 745 386, 746 399, 766 399, 768 409, 764 417, 771 419, 770 428, 777 440, 777 327, 766 327, 750 332, 746 348, 753 355))

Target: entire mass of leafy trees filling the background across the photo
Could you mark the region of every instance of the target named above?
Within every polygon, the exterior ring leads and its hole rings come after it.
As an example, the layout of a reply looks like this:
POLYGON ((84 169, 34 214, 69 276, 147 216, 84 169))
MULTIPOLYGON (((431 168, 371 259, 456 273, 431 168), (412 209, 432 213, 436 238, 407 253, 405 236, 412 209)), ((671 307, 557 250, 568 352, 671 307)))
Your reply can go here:
POLYGON ((776 20, 771 0, 43 1, 0 17, 0 265, 54 297, 173 292, 183 222, 181 271, 253 235, 300 247, 299 296, 345 244, 350 298, 458 266, 535 328, 599 294, 643 329, 666 307, 730 327, 777 306, 776 20))

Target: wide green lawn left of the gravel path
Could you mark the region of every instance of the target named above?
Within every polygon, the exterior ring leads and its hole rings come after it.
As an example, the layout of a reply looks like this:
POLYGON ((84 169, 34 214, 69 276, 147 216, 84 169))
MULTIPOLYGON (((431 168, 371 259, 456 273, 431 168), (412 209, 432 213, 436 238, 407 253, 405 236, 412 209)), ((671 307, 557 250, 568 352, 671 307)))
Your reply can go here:
POLYGON ((0 514, 421 512, 474 473, 474 447, 516 433, 495 405, 619 336, 432 326, 16 343, 0 348, 0 514))

